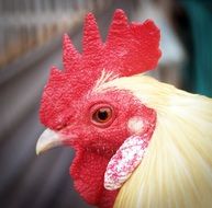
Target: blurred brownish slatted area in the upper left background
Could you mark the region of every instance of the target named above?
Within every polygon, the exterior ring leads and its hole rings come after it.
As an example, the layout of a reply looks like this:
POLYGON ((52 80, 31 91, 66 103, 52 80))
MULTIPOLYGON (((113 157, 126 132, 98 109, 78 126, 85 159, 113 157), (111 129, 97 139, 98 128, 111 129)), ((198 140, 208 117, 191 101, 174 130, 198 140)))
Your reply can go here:
POLYGON ((1 1, 0 67, 42 46, 54 37, 75 31, 87 11, 101 12, 110 1, 1 1))

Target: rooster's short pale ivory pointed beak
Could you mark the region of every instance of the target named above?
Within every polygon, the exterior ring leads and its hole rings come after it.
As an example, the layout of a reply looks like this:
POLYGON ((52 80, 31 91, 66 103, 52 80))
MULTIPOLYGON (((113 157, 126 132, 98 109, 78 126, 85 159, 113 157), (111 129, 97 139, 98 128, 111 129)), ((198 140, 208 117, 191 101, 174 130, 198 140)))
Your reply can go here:
POLYGON ((63 145, 63 135, 51 129, 44 130, 36 143, 36 154, 63 145))

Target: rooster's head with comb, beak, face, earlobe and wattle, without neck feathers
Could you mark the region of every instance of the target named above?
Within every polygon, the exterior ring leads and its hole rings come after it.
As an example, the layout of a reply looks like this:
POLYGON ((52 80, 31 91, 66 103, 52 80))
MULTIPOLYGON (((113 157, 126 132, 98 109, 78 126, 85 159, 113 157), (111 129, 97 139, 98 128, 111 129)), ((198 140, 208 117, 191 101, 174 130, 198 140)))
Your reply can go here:
POLYGON ((94 16, 87 14, 81 54, 64 36, 64 70, 54 67, 44 89, 40 115, 47 129, 36 151, 58 145, 74 148, 70 175, 89 204, 112 207, 156 125, 153 108, 130 91, 104 85, 154 69, 160 57, 158 46, 155 24, 129 23, 122 10, 115 11, 105 43, 94 16))

